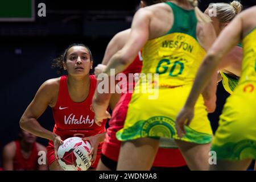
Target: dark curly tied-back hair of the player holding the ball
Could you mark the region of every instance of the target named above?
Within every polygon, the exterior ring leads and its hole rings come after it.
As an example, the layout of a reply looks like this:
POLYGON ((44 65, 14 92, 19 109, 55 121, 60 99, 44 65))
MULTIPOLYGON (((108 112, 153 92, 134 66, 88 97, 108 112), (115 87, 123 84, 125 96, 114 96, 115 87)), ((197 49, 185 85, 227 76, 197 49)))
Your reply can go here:
MULTIPOLYGON (((70 48, 72 48, 72 47, 74 47, 74 46, 82 46, 82 47, 85 47, 85 48, 88 50, 89 54, 90 54, 90 60, 93 61, 92 52, 90 51, 90 49, 89 49, 88 46, 86 46, 85 44, 81 44, 81 43, 74 43, 74 44, 71 44, 71 45, 69 45, 69 46, 65 49, 63 55, 60 55, 59 57, 57 57, 57 58, 55 58, 55 59, 53 60, 52 68, 57 69, 57 73, 58 73, 58 74, 64 73, 63 62, 65 63, 65 62, 67 61, 67 52, 68 52, 68 50, 69 50, 70 48)), ((91 73, 91 72, 90 72, 90 73, 91 73)))

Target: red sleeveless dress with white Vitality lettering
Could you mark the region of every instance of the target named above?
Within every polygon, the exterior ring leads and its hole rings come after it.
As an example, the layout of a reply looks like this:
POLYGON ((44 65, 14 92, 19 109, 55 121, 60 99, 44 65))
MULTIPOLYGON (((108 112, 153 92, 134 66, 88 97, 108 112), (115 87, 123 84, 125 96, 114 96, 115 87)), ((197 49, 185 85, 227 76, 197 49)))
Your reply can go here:
MULTIPOLYGON (((73 102, 68 93, 68 76, 60 78, 59 95, 55 107, 52 107, 55 126, 53 133, 59 135, 62 140, 70 137, 90 137, 106 131, 106 119, 102 126, 94 122, 94 111, 92 107, 93 94, 97 87, 97 79, 90 75, 90 92, 83 102, 73 102)), ((96 168, 100 160, 102 143, 98 146, 96 162, 92 168, 96 168)), ((47 158, 49 165, 55 161, 54 147, 52 140, 47 146, 47 158)))

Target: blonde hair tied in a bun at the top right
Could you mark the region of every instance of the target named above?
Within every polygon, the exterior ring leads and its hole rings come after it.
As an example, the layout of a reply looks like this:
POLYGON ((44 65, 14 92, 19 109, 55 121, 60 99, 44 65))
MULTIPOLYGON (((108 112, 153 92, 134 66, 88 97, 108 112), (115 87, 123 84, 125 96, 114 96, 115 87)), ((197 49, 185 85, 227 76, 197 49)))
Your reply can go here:
POLYGON ((221 23, 230 22, 243 9, 239 1, 233 1, 232 3, 211 3, 210 5, 216 8, 217 18, 221 23))

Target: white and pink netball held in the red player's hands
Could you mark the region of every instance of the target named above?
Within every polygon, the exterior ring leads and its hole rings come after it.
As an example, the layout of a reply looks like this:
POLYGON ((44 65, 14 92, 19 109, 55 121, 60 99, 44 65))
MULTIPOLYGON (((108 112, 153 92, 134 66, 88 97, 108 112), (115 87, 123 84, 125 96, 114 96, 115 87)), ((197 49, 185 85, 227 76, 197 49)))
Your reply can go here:
POLYGON ((90 150, 90 143, 80 137, 65 139, 57 151, 58 162, 65 171, 86 171, 91 166, 90 150))

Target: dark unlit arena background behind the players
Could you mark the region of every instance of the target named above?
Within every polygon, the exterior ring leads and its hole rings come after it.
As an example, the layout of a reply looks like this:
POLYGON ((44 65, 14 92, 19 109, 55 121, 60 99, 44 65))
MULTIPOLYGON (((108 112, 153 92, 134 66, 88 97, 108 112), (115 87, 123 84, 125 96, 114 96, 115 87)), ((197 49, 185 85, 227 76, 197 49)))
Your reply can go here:
MULTIPOLYGON (((205 10, 210 2, 203 1, 205 10)), ((245 7, 255 0, 242 1, 245 7)), ((130 27, 139 1, 35 1, 35 22, 0 22, 1 126, 0 145, 18 138, 19 119, 39 86, 58 77, 51 69, 53 58, 71 43, 87 44, 94 56, 94 66, 101 63, 105 48, 114 34, 130 27), (37 16, 38 4, 46 3, 46 17, 37 16)), ((228 93, 218 85, 217 109, 209 115, 214 131, 228 93)), ((53 129, 51 109, 39 118, 42 126, 53 129)), ((46 139, 38 138, 47 145, 46 139)), ((1 147, 0 147, 1 148, 1 147)), ((1 165, 1 164, 0 164, 1 165)))

